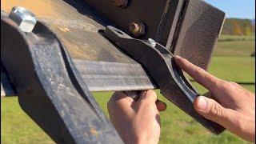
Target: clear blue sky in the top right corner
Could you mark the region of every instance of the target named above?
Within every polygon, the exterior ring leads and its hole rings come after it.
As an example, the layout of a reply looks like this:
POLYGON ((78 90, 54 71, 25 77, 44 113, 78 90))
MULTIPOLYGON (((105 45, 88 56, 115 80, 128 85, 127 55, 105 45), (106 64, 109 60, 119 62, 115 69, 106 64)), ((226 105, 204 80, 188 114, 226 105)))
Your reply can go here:
POLYGON ((205 0, 226 13, 226 18, 255 18, 255 0, 205 0))

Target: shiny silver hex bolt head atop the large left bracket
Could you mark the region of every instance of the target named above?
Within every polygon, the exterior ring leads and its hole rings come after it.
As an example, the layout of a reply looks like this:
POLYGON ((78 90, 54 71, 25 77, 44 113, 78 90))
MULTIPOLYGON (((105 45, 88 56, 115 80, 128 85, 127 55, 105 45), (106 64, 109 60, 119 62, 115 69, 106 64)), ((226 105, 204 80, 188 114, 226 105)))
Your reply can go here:
POLYGON ((34 29, 37 19, 34 14, 24 7, 14 6, 10 10, 9 18, 12 19, 18 27, 26 32, 30 33, 34 29))

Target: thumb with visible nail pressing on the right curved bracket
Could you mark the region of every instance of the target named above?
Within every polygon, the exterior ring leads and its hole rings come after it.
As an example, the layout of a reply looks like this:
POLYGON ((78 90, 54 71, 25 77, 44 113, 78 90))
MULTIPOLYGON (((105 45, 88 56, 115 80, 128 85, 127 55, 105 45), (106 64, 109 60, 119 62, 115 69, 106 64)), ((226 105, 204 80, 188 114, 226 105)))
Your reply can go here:
POLYGON ((226 108, 214 101, 214 99, 199 96, 194 101, 194 109, 204 118, 217 122, 224 127, 226 122, 229 121, 226 108))

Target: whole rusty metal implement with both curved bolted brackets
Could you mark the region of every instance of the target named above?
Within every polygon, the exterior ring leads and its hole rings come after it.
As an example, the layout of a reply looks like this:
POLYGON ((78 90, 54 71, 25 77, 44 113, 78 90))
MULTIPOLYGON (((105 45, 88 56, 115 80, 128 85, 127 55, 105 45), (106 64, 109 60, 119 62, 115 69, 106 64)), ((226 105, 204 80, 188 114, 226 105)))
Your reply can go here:
POLYGON ((31 2, 1 7, 1 95, 18 95, 54 142, 122 143, 92 91, 159 88, 215 134, 224 130, 194 111, 198 93, 172 55, 206 69, 222 28, 221 10, 201 0, 38 0, 49 8, 45 13, 31 2), (4 12, 19 5, 34 14, 21 7, 4 12), (98 33, 110 24, 148 42, 108 27, 113 45, 98 33))

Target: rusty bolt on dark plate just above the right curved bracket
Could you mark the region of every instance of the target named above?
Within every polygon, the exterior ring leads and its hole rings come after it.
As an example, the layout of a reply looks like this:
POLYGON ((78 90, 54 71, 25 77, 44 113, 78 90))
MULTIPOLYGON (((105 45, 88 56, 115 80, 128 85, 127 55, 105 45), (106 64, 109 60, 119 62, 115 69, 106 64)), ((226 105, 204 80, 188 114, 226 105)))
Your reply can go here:
POLYGON ((130 34, 134 37, 139 37, 145 34, 145 24, 143 22, 130 22, 129 30, 130 34))

